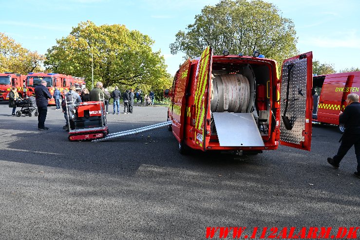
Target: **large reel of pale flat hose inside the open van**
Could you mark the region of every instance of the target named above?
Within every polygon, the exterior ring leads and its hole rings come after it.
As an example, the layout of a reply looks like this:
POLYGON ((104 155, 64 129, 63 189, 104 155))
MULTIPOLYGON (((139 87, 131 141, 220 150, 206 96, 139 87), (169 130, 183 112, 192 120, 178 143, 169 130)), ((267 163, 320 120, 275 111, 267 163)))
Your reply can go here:
POLYGON ((246 112, 250 101, 250 84, 242 74, 215 75, 212 79, 212 112, 246 112))

